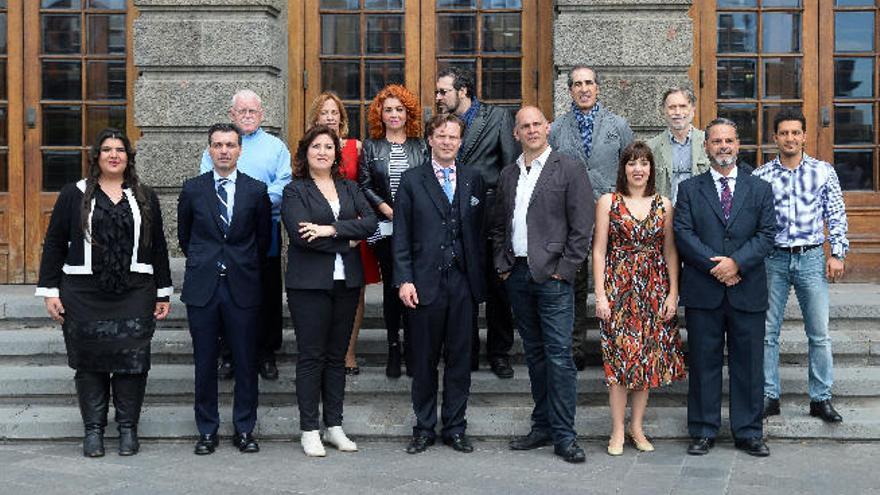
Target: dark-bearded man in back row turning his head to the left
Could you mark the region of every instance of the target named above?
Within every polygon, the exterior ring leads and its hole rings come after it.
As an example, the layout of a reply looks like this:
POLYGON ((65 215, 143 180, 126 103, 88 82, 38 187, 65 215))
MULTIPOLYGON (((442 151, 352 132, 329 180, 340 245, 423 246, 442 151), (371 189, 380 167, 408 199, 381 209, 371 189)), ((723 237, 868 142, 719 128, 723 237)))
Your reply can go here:
MULTIPOLYGON (((513 119, 506 109, 483 103, 477 99, 472 73, 449 67, 437 74, 434 93, 440 113, 457 116, 464 122, 464 134, 456 161, 462 167, 476 170, 486 185, 483 210, 491 215, 495 204, 495 186, 505 165, 519 155, 519 146, 513 139, 513 119)), ((492 246, 485 241, 485 264, 491 265, 492 246)), ((486 272, 486 355, 489 366, 498 378, 513 378, 510 366, 510 348, 513 345, 513 317, 504 285, 491 270, 486 272)), ((474 307, 471 340, 471 369, 480 363, 480 336, 477 327, 479 306, 474 307)))

